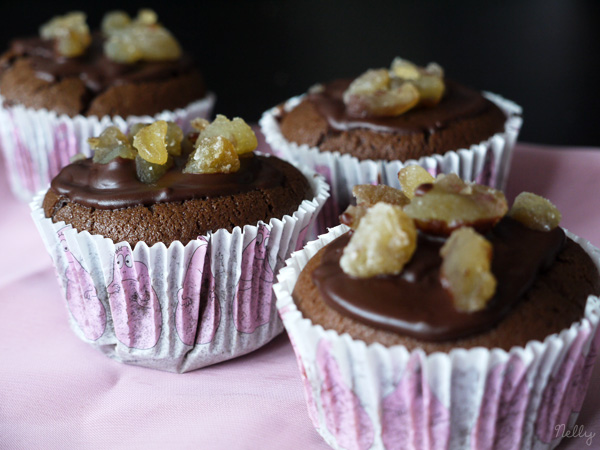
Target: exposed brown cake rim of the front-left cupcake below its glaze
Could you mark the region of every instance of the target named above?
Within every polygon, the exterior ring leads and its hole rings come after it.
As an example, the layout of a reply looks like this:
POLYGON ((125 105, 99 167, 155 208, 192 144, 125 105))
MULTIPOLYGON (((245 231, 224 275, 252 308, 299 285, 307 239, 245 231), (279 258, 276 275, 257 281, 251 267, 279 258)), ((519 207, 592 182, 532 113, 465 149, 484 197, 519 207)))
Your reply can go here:
POLYGON ((266 223, 283 218, 298 209, 312 190, 304 175, 285 161, 272 158, 285 175, 283 186, 217 198, 198 198, 184 202, 156 203, 119 210, 94 209, 71 202, 50 189, 43 202, 46 217, 64 221, 78 231, 102 235, 115 242, 127 241, 132 247, 140 241, 151 246, 173 241, 187 244, 209 231, 266 223))

